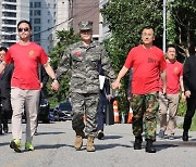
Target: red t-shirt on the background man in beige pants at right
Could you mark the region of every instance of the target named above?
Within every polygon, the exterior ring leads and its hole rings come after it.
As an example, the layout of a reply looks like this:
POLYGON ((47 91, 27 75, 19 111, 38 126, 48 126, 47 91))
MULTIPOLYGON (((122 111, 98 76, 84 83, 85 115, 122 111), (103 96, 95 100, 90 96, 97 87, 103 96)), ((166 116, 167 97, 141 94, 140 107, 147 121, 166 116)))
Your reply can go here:
MULTIPOLYGON (((167 61, 167 93, 168 94, 176 94, 180 89, 180 77, 183 76, 183 64, 175 61, 174 63, 170 63, 167 61)), ((162 81, 160 80, 161 88, 162 81)))

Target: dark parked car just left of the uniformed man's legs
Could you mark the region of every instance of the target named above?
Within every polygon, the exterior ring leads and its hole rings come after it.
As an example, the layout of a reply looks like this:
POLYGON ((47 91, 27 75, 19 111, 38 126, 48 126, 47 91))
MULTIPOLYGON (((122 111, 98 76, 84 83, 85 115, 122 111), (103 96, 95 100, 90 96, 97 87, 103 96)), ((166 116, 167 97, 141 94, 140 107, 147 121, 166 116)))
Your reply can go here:
POLYGON ((72 105, 70 101, 59 103, 54 108, 54 120, 71 120, 72 105))

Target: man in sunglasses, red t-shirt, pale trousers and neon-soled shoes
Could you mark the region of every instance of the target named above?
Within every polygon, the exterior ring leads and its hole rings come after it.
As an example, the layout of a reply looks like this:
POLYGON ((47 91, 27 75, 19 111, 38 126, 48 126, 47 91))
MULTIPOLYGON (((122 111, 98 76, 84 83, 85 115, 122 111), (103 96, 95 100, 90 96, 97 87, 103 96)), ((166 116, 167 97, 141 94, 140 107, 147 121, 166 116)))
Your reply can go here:
POLYGON ((47 74, 52 78, 51 88, 58 90, 59 82, 51 68, 48 56, 42 48, 30 41, 32 26, 28 21, 21 21, 17 24, 20 41, 12 47, 0 64, 0 74, 7 64, 14 64, 14 72, 11 79, 11 104, 12 104, 12 136, 10 147, 15 152, 22 151, 22 114, 26 112, 26 143, 25 149, 33 151, 33 136, 37 126, 37 112, 40 94, 40 81, 37 69, 42 64, 47 74))

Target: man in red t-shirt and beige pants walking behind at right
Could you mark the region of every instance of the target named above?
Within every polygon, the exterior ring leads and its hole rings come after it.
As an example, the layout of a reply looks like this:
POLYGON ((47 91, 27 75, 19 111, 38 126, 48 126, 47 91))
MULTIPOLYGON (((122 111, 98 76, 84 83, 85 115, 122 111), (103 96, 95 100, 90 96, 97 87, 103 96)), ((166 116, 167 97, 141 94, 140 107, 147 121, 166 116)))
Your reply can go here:
MULTIPOLYGON (((182 99, 185 100, 183 86, 183 64, 175 60, 175 46, 170 44, 167 49, 167 94, 159 93, 159 118, 160 131, 159 138, 174 139, 174 129, 176 127, 175 116, 179 105, 179 91, 182 90, 182 99), (167 112, 169 111, 169 120, 167 121, 167 112)), ((162 85, 161 85, 162 86, 162 85)))

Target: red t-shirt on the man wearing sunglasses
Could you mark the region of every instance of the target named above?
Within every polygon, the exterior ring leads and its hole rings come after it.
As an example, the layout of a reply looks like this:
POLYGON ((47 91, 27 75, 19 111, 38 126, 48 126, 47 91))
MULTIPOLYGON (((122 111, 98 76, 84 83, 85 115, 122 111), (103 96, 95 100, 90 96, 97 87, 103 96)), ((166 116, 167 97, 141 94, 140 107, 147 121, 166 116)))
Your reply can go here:
POLYGON ((11 86, 21 89, 40 89, 38 63, 46 64, 47 61, 47 54, 35 42, 30 42, 28 46, 13 44, 4 56, 5 63, 14 63, 11 86))

